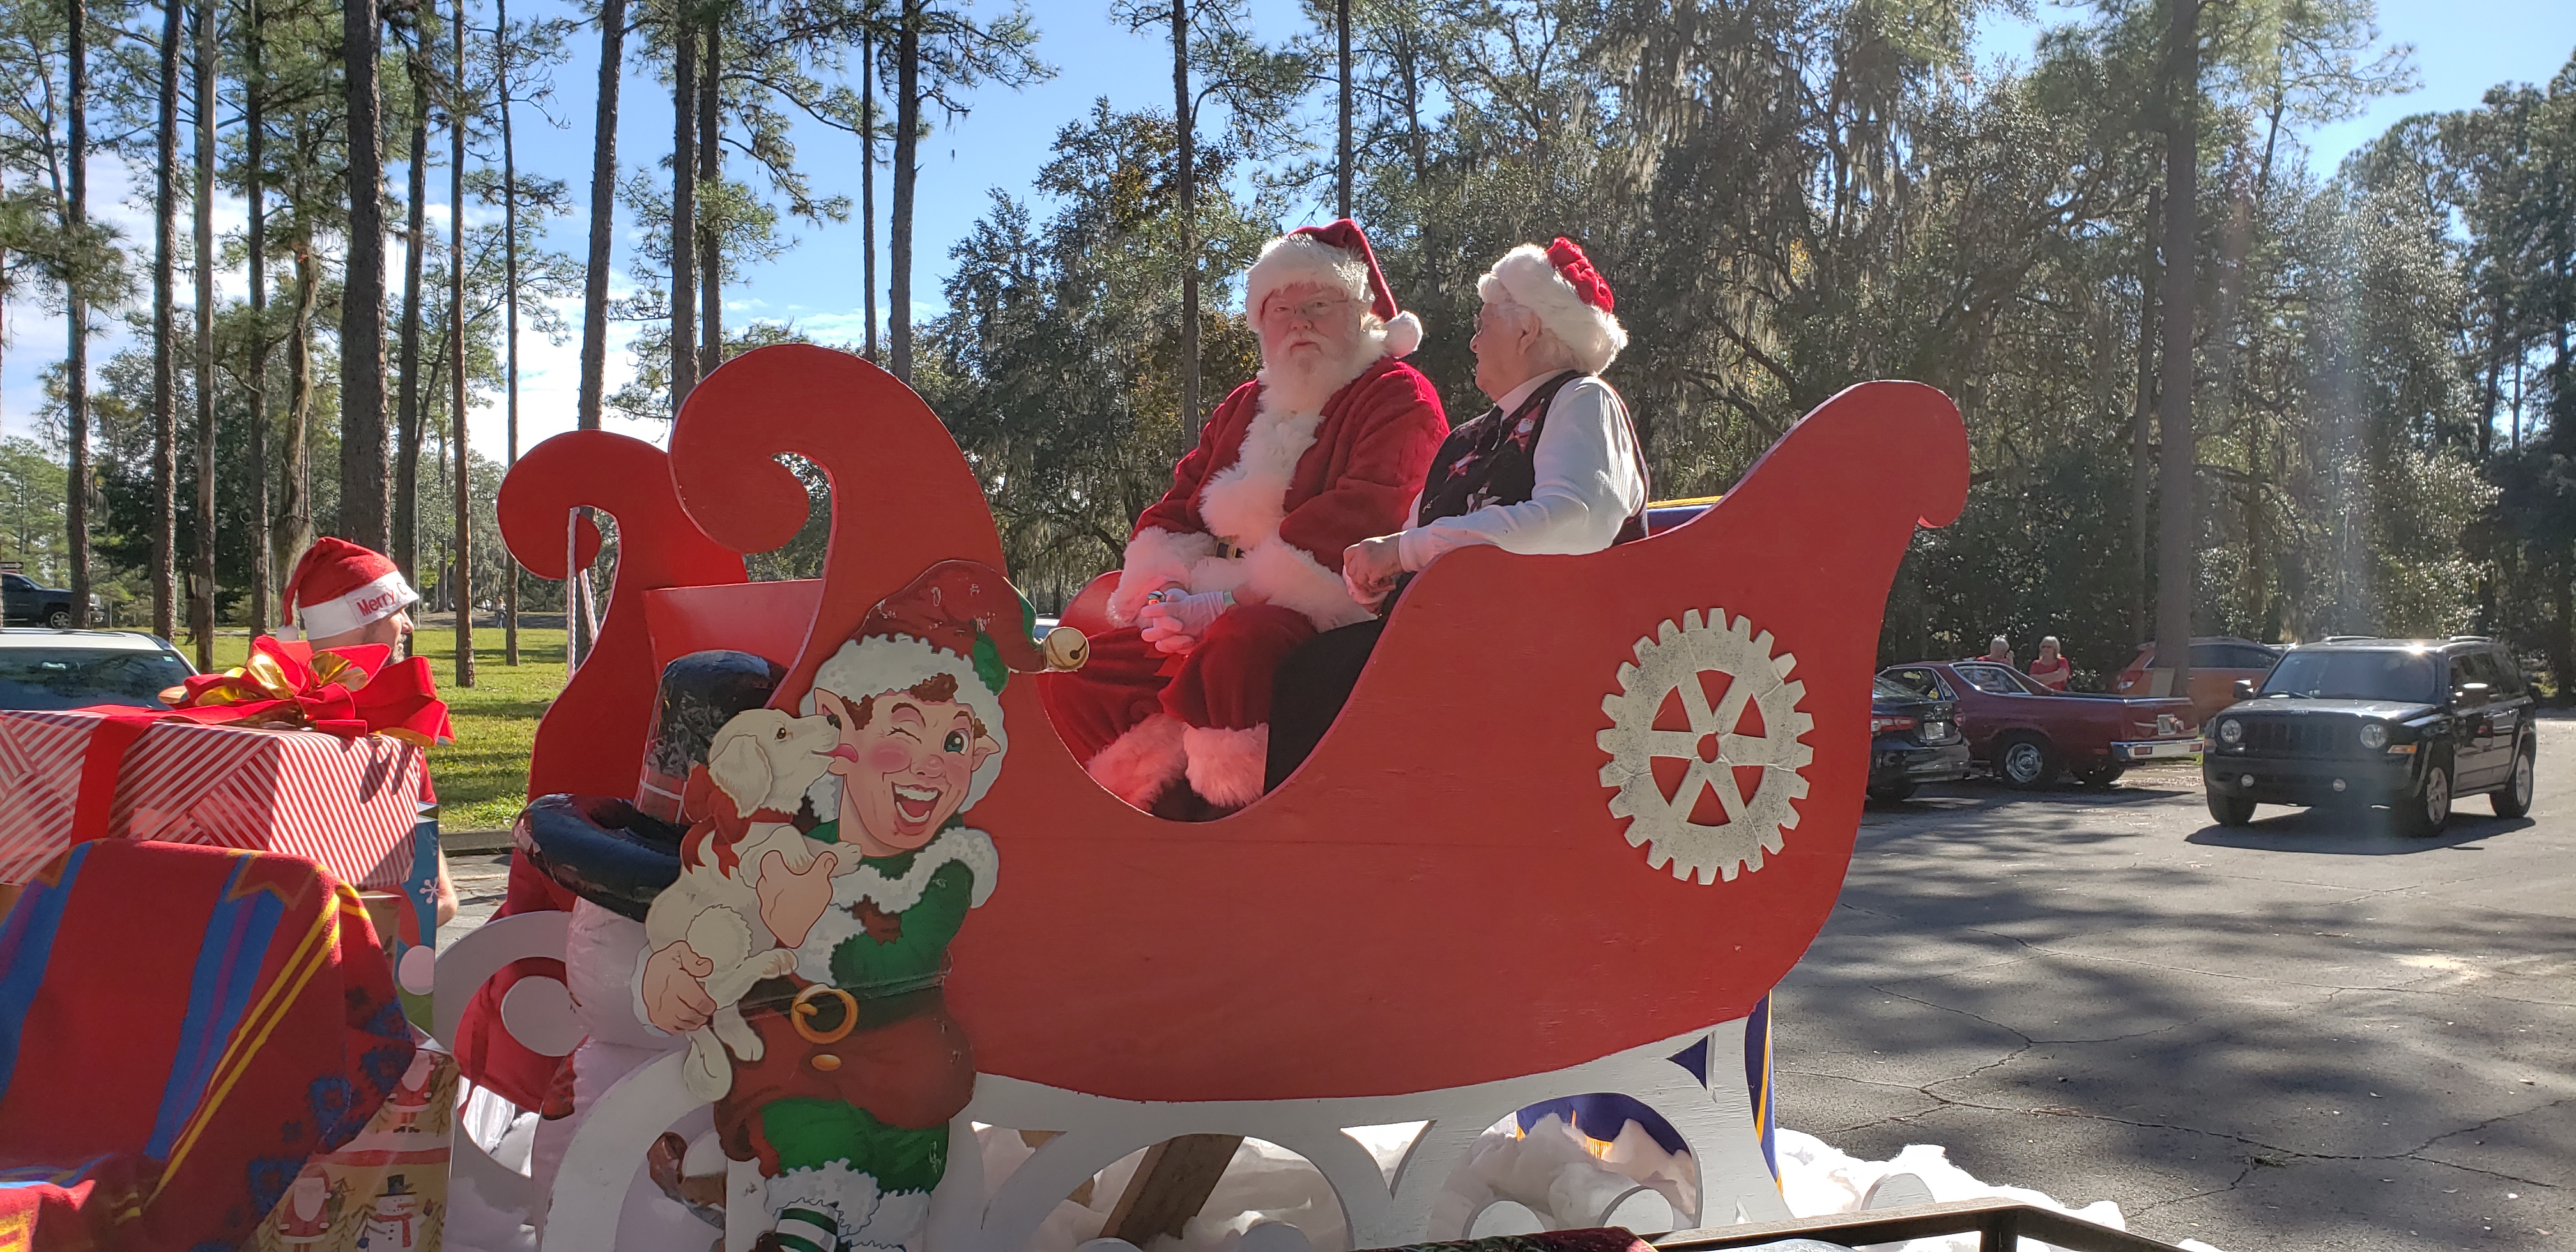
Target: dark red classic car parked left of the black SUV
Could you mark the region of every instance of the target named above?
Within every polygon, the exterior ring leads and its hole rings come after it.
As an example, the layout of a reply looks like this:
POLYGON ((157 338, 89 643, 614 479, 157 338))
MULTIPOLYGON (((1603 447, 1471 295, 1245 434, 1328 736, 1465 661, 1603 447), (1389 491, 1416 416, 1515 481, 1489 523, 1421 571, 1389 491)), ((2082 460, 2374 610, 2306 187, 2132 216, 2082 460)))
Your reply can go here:
POLYGON ((1968 755, 2009 786, 2038 788, 2074 773, 2110 786, 2148 760, 2200 752, 2192 701, 2048 690, 1994 662, 1893 665, 1878 678, 1958 706, 1968 755))

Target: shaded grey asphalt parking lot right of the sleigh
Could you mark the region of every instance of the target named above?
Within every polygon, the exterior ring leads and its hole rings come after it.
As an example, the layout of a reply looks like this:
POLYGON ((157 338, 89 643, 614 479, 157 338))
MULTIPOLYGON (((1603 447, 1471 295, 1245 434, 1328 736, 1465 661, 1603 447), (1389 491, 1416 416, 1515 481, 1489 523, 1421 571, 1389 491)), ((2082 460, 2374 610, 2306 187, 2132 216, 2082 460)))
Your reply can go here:
POLYGON ((1873 804, 1777 992, 1777 1115, 2226 1252, 2576 1249, 2576 719, 2537 799, 2264 806, 2197 768, 1873 804))

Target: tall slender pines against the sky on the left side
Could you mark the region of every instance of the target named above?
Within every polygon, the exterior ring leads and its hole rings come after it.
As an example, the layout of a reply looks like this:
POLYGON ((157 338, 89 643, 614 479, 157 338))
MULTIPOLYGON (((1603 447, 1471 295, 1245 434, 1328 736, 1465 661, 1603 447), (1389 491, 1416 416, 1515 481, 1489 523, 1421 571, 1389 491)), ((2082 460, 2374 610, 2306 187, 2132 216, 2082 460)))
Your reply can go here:
MULTIPOLYGON (((559 582, 523 587, 492 510, 520 446, 520 335, 582 335, 582 428, 611 407, 667 417, 696 376, 775 340, 724 330, 724 283, 788 247, 783 216, 848 222, 788 139, 811 119, 863 144, 868 201, 891 155, 891 353, 907 368, 927 113, 1048 72, 1018 8, 979 23, 930 0, 603 0, 582 21, 487 5, 0 3, 0 296, 59 314, 64 335, 41 438, 0 446, 0 556, 162 636, 185 616, 209 665, 216 623, 265 631, 294 559, 337 533, 392 554, 433 603, 500 608, 515 665, 523 593, 564 603, 559 582), (580 201, 518 167, 518 126, 554 121, 551 75, 582 31, 603 72, 590 247, 572 258, 544 237, 580 201), (616 152, 636 62, 677 116, 672 149, 641 170, 616 152), (149 188, 131 196, 149 240, 103 222, 90 180, 106 170, 149 188), (227 198, 247 224, 219 234, 227 198), (652 227, 631 258, 644 294, 623 301, 608 299, 616 201, 652 227), (580 327, 556 312, 574 296, 580 327), (93 363, 106 317, 134 348, 93 363), (613 397, 611 319, 652 325, 647 368, 613 397), (500 464, 469 428, 495 407, 500 464)), ((871 322, 873 291, 871 276, 871 322)), ((0 330, 28 343, 28 327, 0 330)), ((471 629, 459 613, 464 685, 471 629)))

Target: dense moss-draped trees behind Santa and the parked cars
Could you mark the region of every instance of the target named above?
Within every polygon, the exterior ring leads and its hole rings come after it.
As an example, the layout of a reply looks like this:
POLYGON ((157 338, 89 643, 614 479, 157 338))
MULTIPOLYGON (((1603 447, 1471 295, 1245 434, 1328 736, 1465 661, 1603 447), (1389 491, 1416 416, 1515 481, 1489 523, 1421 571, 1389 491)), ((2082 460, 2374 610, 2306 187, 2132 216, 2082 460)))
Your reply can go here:
POLYGON ((1347 180, 1453 420, 1486 407, 1476 276, 1592 250, 1659 497, 1855 381, 1955 397, 1971 502, 1917 538, 1888 659, 2058 634, 2099 680, 2159 636, 2476 629, 2576 672, 2576 64, 2321 178, 2306 139, 2409 85, 2367 0, 2105 0, 2017 70, 1968 54, 2002 5, 1309 0, 1278 49, 1180 10, 1190 124, 1066 124, 914 379, 1041 585, 1118 564, 1255 368, 1182 278, 1347 180), (1337 88, 1350 139, 1278 124, 1337 88))

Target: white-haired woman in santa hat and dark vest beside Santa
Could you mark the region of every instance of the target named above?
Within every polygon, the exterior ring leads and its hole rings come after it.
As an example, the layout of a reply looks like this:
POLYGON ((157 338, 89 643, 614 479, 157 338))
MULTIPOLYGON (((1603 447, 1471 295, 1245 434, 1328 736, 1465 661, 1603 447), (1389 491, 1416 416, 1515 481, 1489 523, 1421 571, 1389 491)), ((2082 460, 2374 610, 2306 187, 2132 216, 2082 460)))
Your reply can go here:
MULTIPOLYGON (((1494 407, 1450 430, 1430 482, 1406 507, 1412 528, 1352 544, 1342 577, 1383 611, 1401 580, 1443 551, 1494 544, 1525 554, 1584 554, 1646 536, 1646 459, 1628 404, 1600 379, 1628 332, 1610 283, 1558 237, 1520 245, 1476 281, 1476 389, 1494 407)), ((1296 773, 1360 680, 1383 618, 1334 629, 1278 670, 1267 786, 1296 773)))

